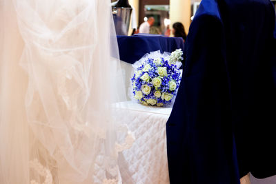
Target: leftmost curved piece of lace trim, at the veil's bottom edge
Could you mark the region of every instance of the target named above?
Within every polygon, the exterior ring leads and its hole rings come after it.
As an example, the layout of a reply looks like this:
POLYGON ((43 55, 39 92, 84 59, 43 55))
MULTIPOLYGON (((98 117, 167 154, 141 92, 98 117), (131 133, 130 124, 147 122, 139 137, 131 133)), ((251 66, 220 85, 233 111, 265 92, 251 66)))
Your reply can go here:
MULTIPOLYGON (((30 168, 34 169, 40 176, 45 178, 42 184, 52 184, 52 174, 50 170, 41 165, 37 159, 30 161, 30 168)), ((30 181, 31 184, 39 184, 37 181, 30 181)))

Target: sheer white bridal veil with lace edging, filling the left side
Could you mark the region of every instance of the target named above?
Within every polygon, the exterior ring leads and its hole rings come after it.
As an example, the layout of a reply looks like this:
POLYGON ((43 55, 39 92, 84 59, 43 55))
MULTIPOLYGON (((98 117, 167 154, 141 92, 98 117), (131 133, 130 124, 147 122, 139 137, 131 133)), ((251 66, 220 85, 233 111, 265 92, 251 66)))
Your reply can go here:
POLYGON ((120 183, 133 140, 112 108, 126 94, 110 8, 0 0, 1 184, 120 183))

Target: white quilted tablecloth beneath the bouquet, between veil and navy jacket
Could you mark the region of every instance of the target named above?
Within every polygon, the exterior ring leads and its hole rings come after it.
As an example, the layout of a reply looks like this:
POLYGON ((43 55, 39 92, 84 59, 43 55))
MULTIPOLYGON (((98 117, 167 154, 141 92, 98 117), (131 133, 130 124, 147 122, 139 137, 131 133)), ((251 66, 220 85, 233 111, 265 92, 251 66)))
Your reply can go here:
POLYGON ((166 122, 172 108, 155 108, 132 101, 120 104, 126 108, 128 128, 135 143, 119 155, 123 183, 169 183, 166 150, 166 122), (127 165, 127 167, 125 167, 127 165))

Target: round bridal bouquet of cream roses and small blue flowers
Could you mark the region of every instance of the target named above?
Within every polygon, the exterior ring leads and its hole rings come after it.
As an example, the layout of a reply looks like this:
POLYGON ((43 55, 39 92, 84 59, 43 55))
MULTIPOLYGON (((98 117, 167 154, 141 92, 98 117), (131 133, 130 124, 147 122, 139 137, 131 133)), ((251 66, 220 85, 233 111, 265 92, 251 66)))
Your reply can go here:
POLYGON ((172 103, 181 81, 182 54, 181 49, 171 54, 150 52, 133 64, 132 94, 139 103, 159 107, 172 103))

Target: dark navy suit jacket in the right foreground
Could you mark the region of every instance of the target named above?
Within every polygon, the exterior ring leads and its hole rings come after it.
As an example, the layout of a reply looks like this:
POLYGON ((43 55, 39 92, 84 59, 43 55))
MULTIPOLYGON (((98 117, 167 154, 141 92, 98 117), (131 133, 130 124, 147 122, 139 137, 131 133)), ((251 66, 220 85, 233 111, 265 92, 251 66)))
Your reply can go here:
POLYGON ((275 10, 202 0, 168 120, 170 183, 236 184, 276 174, 275 10))

